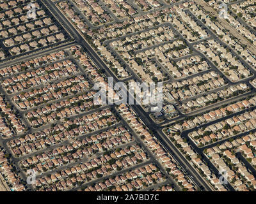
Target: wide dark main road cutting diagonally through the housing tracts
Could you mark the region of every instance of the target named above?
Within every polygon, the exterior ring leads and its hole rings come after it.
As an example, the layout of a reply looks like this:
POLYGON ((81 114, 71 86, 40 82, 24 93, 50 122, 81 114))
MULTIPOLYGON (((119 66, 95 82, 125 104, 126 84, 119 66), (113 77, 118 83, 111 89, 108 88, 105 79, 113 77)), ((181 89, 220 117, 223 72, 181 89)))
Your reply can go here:
MULTIPOLYGON (((51 10, 52 14, 60 21, 65 29, 67 29, 68 32, 74 38, 76 38, 77 43, 81 44, 84 48, 86 48, 87 54, 100 69, 103 69, 105 71, 104 74, 107 77, 113 77, 115 83, 118 82, 118 79, 115 77, 115 75, 113 75, 113 73, 109 71, 108 66, 106 66, 102 59, 100 59, 99 55, 97 55, 93 48, 86 42, 86 40, 83 38, 83 36, 81 36, 79 31, 77 31, 76 28, 74 28, 73 25, 67 20, 67 18, 65 18, 65 16, 61 13, 61 11, 56 8, 55 4, 52 3, 51 0, 42 0, 42 2, 45 3, 49 10, 51 10)), ((134 98, 128 92, 127 98, 130 97, 134 98)), ((212 191, 212 187, 209 186, 209 184, 205 182, 202 177, 200 177, 198 172, 195 170, 195 168, 193 168, 193 166, 191 166, 191 164, 186 160, 182 153, 170 142, 170 140, 168 140, 168 138, 166 138, 166 136, 164 136, 164 134, 161 133, 160 128, 156 126, 156 124, 149 117, 148 113, 146 113, 140 105, 131 106, 134 112, 136 112, 137 115, 140 115, 140 119, 144 122, 144 124, 152 131, 154 131, 154 135, 156 135, 159 142, 161 142, 164 148, 172 154, 172 156, 180 164, 180 166, 184 170, 188 170, 188 175, 193 179, 196 186, 202 186, 204 191, 212 191)))

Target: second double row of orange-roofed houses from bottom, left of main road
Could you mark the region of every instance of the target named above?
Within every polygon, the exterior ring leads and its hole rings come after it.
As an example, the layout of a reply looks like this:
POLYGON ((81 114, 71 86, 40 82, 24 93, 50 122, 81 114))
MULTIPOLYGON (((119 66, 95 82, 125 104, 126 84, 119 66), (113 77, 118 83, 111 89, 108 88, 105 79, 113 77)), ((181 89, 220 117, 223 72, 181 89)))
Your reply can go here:
POLYGON ((124 155, 120 160, 116 159, 117 156, 115 153, 95 157, 91 161, 76 164, 72 168, 61 170, 60 173, 52 173, 49 176, 36 179, 35 187, 40 188, 42 191, 68 190, 72 187, 77 187, 79 182, 84 184, 90 180, 97 179, 97 175, 98 177, 99 175, 101 175, 100 177, 105 177, 122 168, 125 169, 128 166, 138 164, 138 160, 132 161, 131 156, 128 156, 131 153, 133 153, 136 158, 147 159, 147 156, 138 145, 132 145, 131 147, 122 149, 124 149, 124 155))

